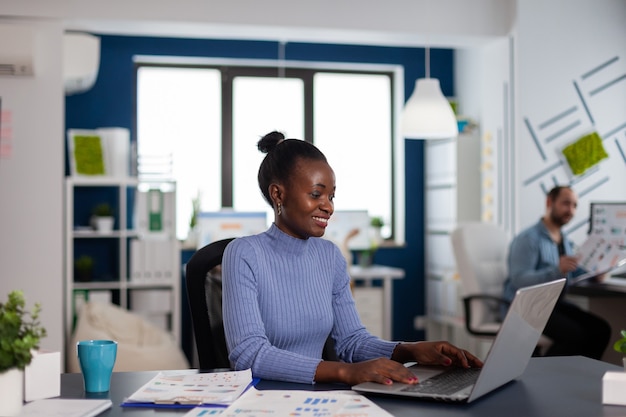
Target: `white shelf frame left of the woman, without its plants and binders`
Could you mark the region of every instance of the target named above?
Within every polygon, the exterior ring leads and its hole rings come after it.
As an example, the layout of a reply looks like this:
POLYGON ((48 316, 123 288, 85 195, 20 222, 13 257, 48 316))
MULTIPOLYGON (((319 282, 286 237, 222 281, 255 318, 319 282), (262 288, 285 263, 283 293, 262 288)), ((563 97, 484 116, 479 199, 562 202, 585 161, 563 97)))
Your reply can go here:
POLYGON ((117 177, 66 178, 66 340, 70 340, 74 327, 75 304, 88 297, 111 299, 114 304, 133 310, 149 320, 150 311, 147 311, 146 307, 150 309, 157 304, 161 311, 153 317, 160 320, 150 321, 157 326, 165 327, 180 344, 180 248, 176 238, 175 204, 163 213, 162 223, 165 225, 163 232, 149 233, 141 225, 136 227, 140 223, 140 220, 135 218, 134 212, 135 204, 139 200, 138 192, 156 188, 163 190, 163 194, 171 193, 170 199, 175 200, 176 183, 173 181, 144 182, 137 178, 117 177), (91 209, 102 202, 109 203, 114 209, 114 228, 108 233, 98 232, 89 227, 91 209), (134 279, 131 277, 133 268, 131 264, 134 262, 131 260, 133 257, 131 241, 153 239, 165 242, 161 247, 167 248, 167 253, 160 255, 167 259, 169 265, 167 276, 158 280, 134 279), (95 273, 89 281, 79 280, 74 272, 74 261, 83 254, 91 256, 96 262, 95 273), (153 305, 150 305, 150 300, 153 300, 153 305), (138 306, 140 302, 142 306, 138 306))

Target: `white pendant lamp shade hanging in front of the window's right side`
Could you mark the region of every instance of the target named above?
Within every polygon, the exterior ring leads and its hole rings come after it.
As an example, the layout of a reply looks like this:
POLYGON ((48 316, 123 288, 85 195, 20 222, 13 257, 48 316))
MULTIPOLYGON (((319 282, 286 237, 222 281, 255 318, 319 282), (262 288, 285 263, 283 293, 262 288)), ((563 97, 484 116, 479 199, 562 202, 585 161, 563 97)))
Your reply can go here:
POLYGON ((448 139, 459 134, 452 106, 436 78, 420 78, 402 111, 402 133, 407 139, 448 139))

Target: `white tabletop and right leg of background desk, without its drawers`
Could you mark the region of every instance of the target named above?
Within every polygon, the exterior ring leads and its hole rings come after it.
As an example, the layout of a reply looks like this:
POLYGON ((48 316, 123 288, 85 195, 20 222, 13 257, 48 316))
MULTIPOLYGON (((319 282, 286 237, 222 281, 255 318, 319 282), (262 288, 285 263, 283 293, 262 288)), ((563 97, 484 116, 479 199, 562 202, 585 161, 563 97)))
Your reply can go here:
POLYGON ((363 280, 369 286, 375 280, 382 280, 383 292, 383 331, 382 338, 391 340, 392 312, 391 305, 393 300, 393 280, 404 278, 404 270, 402 268, 394 268, 384 265, 372 265, 362 267, 360 265, 350 265, 350 277, 353 280, 363 280))

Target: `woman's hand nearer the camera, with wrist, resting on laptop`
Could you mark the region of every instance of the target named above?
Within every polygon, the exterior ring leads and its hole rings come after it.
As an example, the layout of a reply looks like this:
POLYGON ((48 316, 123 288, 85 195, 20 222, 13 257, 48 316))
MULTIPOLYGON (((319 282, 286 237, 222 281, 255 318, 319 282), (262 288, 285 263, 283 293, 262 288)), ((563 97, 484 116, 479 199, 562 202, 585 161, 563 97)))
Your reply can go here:
POLYGON ((390 385, 394 381, 416 384, 417 377, 404 365, 386 358, 358 363, 322 361, 315 372, 316 382, 343 382, 356 385, 361 382, 378 382, 390 385))

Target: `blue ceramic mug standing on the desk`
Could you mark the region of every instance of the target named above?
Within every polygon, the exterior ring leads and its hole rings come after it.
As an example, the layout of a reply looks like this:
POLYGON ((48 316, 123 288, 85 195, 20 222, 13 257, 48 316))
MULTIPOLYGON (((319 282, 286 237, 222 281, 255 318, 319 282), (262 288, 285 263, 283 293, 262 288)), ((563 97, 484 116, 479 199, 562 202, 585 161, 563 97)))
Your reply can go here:
POLYGON ((76 344, 78 363, 83 373, 86 392, 106 392, 117 357, 114 340, 81 340, 76 344))

